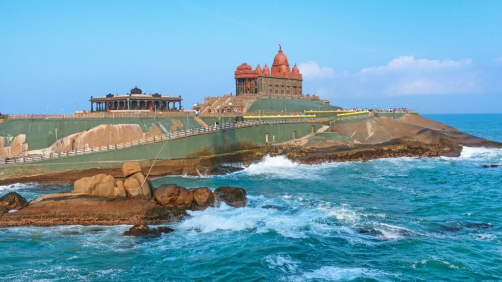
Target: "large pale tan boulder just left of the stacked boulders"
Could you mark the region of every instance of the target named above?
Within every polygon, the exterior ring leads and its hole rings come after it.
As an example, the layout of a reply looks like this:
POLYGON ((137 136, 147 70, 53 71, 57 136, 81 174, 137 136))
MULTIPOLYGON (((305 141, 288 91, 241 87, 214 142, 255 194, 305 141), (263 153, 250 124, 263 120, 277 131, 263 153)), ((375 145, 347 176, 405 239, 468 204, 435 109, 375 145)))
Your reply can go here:
POLYGON ((75 181, 72 192, 101 197, 113 197, 115 187, 116 183, 113 176, 98 174, 75 181))

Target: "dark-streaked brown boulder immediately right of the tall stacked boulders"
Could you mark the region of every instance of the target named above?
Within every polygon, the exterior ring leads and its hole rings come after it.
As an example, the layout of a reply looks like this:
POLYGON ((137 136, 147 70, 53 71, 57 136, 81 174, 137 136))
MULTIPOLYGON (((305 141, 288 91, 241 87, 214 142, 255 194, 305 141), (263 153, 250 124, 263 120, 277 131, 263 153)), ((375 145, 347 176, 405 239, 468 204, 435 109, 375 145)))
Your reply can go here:
POLYGON ((183 186, 161 185, 154 192, 155 200, 159 205, 189 209, 193 202, 193 194, 183 186))

